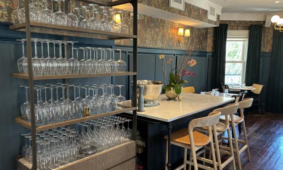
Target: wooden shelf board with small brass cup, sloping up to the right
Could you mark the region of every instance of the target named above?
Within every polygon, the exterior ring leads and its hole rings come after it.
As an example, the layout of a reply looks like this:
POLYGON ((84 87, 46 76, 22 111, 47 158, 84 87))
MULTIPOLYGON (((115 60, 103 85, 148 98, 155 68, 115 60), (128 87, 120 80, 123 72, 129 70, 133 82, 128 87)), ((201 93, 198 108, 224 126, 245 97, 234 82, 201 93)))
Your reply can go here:
MULTIPOLYGON (((53 129, 53 128, 57 128, 57 127, 62 127, 62 126, 67 126, 67 125, 72 125, 72 124, 76 124, 76 123, 80 123, 80 122, 94 120, 94 119, 97 119, 97 118, 111 116, 111 115, 114 115, 114 114, 123 113, 123 112, 127 112, 127 111, 133 111, 133 110, 136 110, 136 108, 135 107, 126 107, 126 106, 125 106, 125 108, 120 107, 118 110, 107 112, 107 113, 91 115, 91 116, 82 117, 82 118, 78 118, 78 119, 72 119, 72 120, 67 120, 67 121, 63 121, 63 122, 57 122, 57 123, 53 123, 53 124, 38 126, 38 127, 36 127, 36 132, 44 131, 44 130, 48 130, 48 129, 53 129)), ((26 128, 28 128, 28 129, 31 129, 31 123, 24 120, 22 116, 17 117, 15 119, 15 122, 26 127, 26 128)))

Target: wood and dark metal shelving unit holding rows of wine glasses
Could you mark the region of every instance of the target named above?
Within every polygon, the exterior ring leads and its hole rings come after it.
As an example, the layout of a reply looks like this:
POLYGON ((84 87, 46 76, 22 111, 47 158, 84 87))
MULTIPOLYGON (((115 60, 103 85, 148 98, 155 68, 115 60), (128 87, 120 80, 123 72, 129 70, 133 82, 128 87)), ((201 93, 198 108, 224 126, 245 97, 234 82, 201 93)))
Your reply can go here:
MULTIPOLYGON (((36 132, 47 130, 50 128, 61 127, 65 125, 71 125, 74 123, 84 122, 88 120, 93 120, 100 117, 110 116, 118 113, 123 113, 126 111, 132 111, 132 140, 129 140, 125 143, 118 144, 112 148, 108 148, 98 153, 94 153, 87 157, 81 157, 80 159, 69 163, 63 167, 56 168, 56 170, 93 170, 93 169, 112 169, 118 167, 118 169, 126 170, 128 166, 135 167, 135 140, 136 140, 136 82, 137 82, 137 0, 115 0, 112 2, 104 2, 100 0, 81 0, 87 3, 96 3, 103 6, 115 6, 125 3, 130 3, 133 6, 133 34, 119 34, 119 33, 110 33, 104 31, 96 31, 90 29, 74 28, 67 26, 58 26, 53 24, 43 24, 30 22, 30 18, 26 17, 25 23, 16 24, 10 26, 10 30, 24 31, 26 32, 27 39, 27 58, 28 58, 28 71, 29 74, 13 73, 13 77, 28 79, 29 80, 29 94, 30 94, 30 103, 31 103, 31 123, 18 117, 15 121, 31 130, 31 145, 32 145, 32 162, 36 162, 36 132), (87 38, 96 38, 96 39, 133 39, 133 72, 117 72, 117 73, 99 73, 99 74, 69 74, 69 75, 33 75, 32 72, 32 61, 31 61, 31 33, 40 33, 40 34, 56 34, 64 36, 76 36, 76 37, 87 37, 87 38), (33 99, 33 83, 34 80, 48 80, 48 79, 64 79, 66 82, 70 78, 84 78, 84 77, 103 77, 103 76, 133 76, 133 85, 132 85, 132 106, 120 106, 118 110, 103 113, 99 115, 91 115, 87 117, 82 117, 78 119, 63 121, 54 124, 48 124, 44 126, 35 125, 35 114, 34 114, 34 99, 33 99), (124 154, 122 154, 124 153, 124 154), (122 155, 121 155, 122 154, 122 155), (116 156, 116 157, 115 157, 116 156), (105 159, 107 158, 107 159, 105 159), (121 158, 121 159, 120 159, 121 158), (111 160, 112 159, 112 160, 111 160), (104 163, 105 162, 105 163, 104 163), (124 168, 125 167, 125 168, 124 168)), ((29 16, 29 0, 25 0, 25 16, 29 16)), ((17 167, 18 170, 37 170, 36 164, 27 164, 21 159, 21 156, 17 157, 17 167)))

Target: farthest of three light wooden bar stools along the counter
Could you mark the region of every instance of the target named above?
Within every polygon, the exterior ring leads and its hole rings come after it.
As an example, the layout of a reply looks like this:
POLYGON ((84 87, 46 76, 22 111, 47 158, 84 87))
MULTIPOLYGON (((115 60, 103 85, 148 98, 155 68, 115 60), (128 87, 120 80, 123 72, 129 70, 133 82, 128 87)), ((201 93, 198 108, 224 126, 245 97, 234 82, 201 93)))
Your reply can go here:
MULTIPOLYGON (((237 115, 233 115, 233 116, 228 116, 229 122, 231 122, 230 126, 232 127, 232 133, 235 136, 235 138, 232 139, 232 141, 235 142, 235 149, 234 152, 236 152, 237 154, 237 159, 238 159, 238 165, 239 165, 239 170, 242 170, 242 164, 241 164, 241 158, 240 158, 240 154, 246 150, 247 152, 247 156, 248 156, 248 161, 251 161, 251 156, 250 156, 250 149, 249 149, 249 144, 248 144, 248 137, 247 137, 247 131, 246 131, 246 125, 245 125, 245 119, 244 119, 244 112, 243 109, 244 108, 248 108, 252 106, 252 98, 248 98, 248 99, 243 99, 241 102, 237 102, 239 104, 239 110, 240 110, 240 116, 237 115), (236 130, 235 130, 235 126, 241 124, 243 127, 243 132, 244 132, 244 138, 245 140, 239 140, 237 139, 237 134, 236 134, 236 130), (239 143, 243 143, 244 146, 239 149, 239 143)), ((221 122, 226 122, 225 117, 220 116, 220 121, 221 122)), ((227 137, 222 137, 222 139, 228 139, 227 137)), ((230 149, 229 147, 226 146, 220 146, 223 149, 230 149)))

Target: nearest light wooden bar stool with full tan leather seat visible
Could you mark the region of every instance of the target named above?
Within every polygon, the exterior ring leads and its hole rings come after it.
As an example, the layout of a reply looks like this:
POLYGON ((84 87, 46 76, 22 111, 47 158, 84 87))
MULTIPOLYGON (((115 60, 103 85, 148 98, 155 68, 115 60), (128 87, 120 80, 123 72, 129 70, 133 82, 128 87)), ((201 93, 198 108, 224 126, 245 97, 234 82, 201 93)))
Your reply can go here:
MULTIPOLYGON (((175 170, 186 170, 186 165, 193 165, 194 170, 198 170, 198 167, 205 169, 205 170, 217 170, 217 161, 215 158, 215 152, 214 152, 214 144, 213 144, 213 135, 217 136, 216 132, 216 124, 219 122, 220 118, 220 112, 211 112, 208 116, 194 119, 189 122, 188 129, 180 129, 176 132, 174 132, 171 137, 171 144, 174 144, 176 146, 180 146, 184 148, 184 163, 179 166, 175 170), (208 136, 194 131, 195 128, 202 128, 202 127, 208 127, 208 136), (212 161, 209 159, 205 159, 202 157, 199 157, 196 153, 196 151, 200 149, 205 149, 205 146, 210 143, 210 147, 212 150, 212 161), (189 154, 189 161, 187 160, 187 149, 190 149, 189 154), (192 162, 191 162, 192 159, 192 162), (213 164, 214 168, 197 164, 197 159, 213 164)), ((164 136, 164 138, 167 140, 167 146, 166 146, 166 161, 168 158, 168 136, 164 136)), ((216 138, 217 140, 217 138, 216 138)), ((167 170, 167 167, 165 166, 165 170, 167 170)))

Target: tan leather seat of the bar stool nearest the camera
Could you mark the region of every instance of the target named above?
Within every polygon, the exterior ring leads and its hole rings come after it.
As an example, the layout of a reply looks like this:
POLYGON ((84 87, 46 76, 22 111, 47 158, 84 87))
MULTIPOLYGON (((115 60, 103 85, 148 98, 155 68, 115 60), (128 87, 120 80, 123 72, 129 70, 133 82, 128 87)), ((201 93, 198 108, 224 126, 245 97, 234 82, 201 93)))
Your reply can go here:
MULTIPOLYGON (((168 139, 168 136, 166 135, 164 136, 164 138, 168 139)), ((188 129, 184 128, 172 133, 171 140, 182 144, 190 145, 188 129)), ((210 137, 197 131, 194 131, 193 140, 195 146, 205 146, 210 142, 210 137)))

